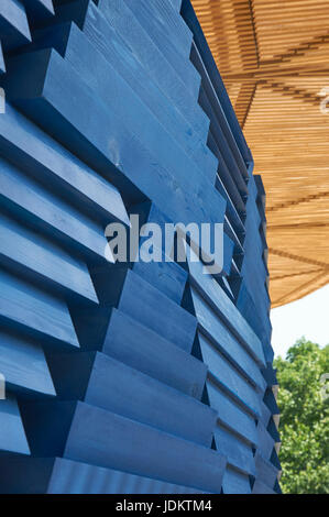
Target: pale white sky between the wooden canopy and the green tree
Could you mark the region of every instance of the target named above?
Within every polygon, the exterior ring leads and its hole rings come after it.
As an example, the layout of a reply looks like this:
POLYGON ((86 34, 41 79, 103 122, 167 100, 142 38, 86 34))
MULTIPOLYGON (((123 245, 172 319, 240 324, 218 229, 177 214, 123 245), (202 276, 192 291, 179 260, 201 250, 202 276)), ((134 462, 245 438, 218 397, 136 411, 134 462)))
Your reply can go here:
POLYGON ((329 284, 300 300, 271 310, 272 346, 275 356, 285 358, 297 339, 306 339, 320 346, 329 344, 329 284))

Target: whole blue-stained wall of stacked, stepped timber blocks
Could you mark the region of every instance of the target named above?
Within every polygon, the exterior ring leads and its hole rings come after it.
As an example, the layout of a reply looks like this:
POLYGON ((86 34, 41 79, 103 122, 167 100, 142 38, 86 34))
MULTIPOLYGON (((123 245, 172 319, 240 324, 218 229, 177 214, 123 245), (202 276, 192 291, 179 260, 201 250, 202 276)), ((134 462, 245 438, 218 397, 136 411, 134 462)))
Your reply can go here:
POLYGON ((279 492, 265 194, 189 0, 0 2, 0 491, 279 492), (224 268, 109 222, 224 224, 224 268))

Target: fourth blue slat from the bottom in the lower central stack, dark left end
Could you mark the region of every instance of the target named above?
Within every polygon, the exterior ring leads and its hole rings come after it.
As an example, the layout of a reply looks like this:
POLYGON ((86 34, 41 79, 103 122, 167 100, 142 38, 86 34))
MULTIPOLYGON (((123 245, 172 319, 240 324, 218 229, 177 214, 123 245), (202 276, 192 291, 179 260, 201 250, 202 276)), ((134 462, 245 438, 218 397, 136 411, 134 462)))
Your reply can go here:
POLYGON ((141 324, 121 310, 99 309, 91 317, 90 312, 91 309, 83 308, 70 310, 81 348, 102 350, 184 393, 201 397, 207 367, 189 355, 190 350, 182 350, 176 341, 166 340, 147 322, 141 324))

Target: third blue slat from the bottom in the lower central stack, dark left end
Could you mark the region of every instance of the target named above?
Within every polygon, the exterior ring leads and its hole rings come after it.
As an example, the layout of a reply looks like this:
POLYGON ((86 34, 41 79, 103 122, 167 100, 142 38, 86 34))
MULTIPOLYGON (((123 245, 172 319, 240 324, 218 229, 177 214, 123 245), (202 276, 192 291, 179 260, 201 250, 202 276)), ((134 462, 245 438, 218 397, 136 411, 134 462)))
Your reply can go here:
POLYGON ((61 398, 83 399, 142 424, 210 447, 217 413, 99 352, 48 355, 61 398))

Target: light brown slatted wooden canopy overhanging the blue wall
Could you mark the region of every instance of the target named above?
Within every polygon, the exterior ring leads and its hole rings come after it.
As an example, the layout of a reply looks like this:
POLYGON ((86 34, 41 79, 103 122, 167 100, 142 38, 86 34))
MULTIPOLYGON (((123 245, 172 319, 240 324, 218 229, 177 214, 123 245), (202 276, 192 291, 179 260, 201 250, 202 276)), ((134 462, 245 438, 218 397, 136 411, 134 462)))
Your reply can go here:
POLYGON ((328 0, 193 4, 266 189, 277 307, 329 282, 328 0))

